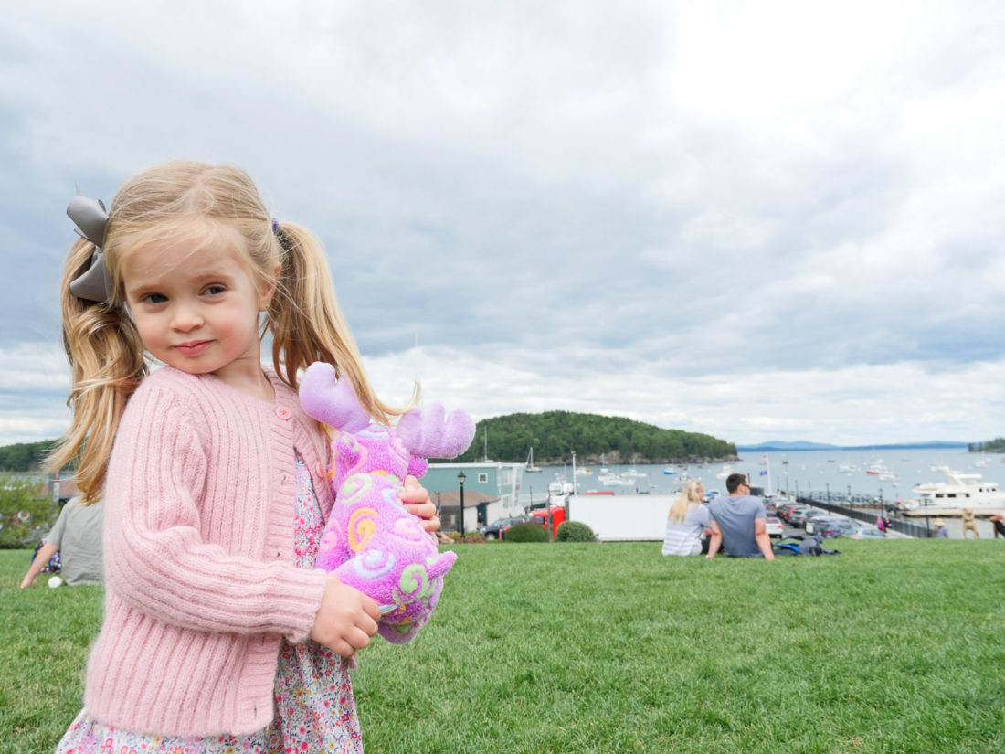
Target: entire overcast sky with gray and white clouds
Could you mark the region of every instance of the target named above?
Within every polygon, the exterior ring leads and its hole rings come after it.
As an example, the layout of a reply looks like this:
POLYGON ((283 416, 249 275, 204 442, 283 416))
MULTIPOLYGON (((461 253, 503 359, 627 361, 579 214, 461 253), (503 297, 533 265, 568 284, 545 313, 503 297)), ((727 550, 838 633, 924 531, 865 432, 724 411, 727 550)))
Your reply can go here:
POLYGON ((0 445, 66 426, 73 184, 176 157, 322 237, 389 401, 1000 436, 1003 145, 995 2, 8 4, 0 445))

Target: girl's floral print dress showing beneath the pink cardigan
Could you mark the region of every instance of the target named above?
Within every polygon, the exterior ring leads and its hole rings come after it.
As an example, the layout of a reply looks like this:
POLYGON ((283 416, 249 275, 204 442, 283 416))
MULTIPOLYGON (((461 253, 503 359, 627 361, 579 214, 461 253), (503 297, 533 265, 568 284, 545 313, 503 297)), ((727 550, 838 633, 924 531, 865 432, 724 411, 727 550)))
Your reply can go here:
MULTIPOLYGON (((296 457, 293 562, 314 568, 325 522, 311 474, 296 457)), ((104 725, 80 712, 57 754, 361 754, 363 740, 349 683, 349 661, 321 644, 282 641, 275 674, 275 717, 249 736, 150 736, 104 725)))

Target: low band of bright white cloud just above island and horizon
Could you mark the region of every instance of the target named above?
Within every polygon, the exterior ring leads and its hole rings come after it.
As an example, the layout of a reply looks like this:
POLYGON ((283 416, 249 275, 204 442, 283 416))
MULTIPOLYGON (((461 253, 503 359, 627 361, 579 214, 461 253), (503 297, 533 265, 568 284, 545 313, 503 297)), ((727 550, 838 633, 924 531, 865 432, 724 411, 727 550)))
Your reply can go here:
POLYGON ((855 444, 987 439, 1005 420, 1005 359, 932 373, 923 363, 834 371, 703 374, 691 378, 627 360, 591 371, 573 349, 538 360, 514 349, 499 360, 450 348, 366 359, 378 393, 404 402, 419 377, 424 400, 477 419, 518 411, 567 410, 627 416, 737 442, 790 437, 855 444), (995 409, 989 411, 989 406, 995 409), (862 427, 869 427, 863 438, 862 427))

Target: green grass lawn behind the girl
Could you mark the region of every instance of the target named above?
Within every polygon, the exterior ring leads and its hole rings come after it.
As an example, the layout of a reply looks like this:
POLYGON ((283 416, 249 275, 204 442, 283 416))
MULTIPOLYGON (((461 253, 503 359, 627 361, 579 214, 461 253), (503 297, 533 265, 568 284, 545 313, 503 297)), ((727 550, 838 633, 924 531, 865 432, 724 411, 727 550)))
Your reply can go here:
MULTIPOLYGON (((410 645, 354 676, 369 754, 1005 751, 1005 544, 838 540, 833 558, 656 543, 460 545, 410 645)), ((78 711, 96 587, 0 552, 0 752, 78 711)))

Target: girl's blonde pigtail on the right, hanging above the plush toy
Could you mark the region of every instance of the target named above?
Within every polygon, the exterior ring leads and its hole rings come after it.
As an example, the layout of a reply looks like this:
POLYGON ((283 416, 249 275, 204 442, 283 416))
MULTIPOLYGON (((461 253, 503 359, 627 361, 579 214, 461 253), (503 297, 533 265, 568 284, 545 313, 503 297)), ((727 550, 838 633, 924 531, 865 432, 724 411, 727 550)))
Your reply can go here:
POLYGON ((297 374, 316 361, 334 364, 348 377, 360 402, 375 420, 388 423, 408 411, 418 399, 392 408, 375 395, 363 371, 356 341, 339 311, 328 258, 321 242, 307 228, 283 222, 276 226, 282 264, 279 282, 268 310, 272 333, 272 363, 282 379, 296 389, 297 374))

